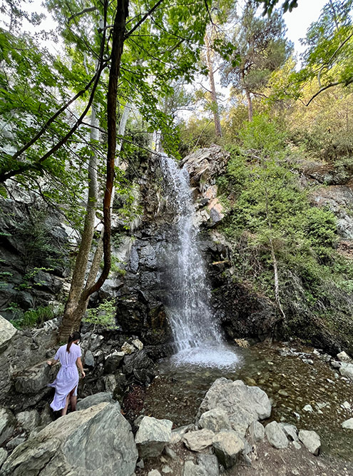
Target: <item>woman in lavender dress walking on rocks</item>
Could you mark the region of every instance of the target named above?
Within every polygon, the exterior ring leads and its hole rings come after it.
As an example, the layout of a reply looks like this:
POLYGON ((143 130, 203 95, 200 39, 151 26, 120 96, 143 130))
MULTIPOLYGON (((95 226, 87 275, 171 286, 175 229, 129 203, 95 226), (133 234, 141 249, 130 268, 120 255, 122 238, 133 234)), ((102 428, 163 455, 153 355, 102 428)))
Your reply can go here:
POLYGON ((81 361, 81 349, 77 345, 81 335, 78 332, 72 333, 68 338, 68 343, 61 345, 58 352, 52 360, 48 360, 48 365, 56 365, 60 360, 61 369, 56 375, 53 383, 49 387, 55 388, 54 400, 50 406, 54 412, 61 410, 61 416, 66 415, 68 411, 68 400, 71 400, 71 411, 76 410, 77 402, 77 385, 78 385, 78 370, 80 369, 82 377, 86 374, 83 372, 83 365, 81 361))

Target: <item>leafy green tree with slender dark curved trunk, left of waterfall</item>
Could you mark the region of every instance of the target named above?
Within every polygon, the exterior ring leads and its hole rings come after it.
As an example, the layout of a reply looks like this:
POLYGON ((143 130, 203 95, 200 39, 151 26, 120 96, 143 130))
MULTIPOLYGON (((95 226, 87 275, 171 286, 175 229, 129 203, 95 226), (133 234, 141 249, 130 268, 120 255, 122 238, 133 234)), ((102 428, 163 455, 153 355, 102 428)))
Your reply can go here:
MULTIPOLYGON (((205 15, 207 8, 202 1, 188 4, 183 1, 167 0, 159 0, 154 4, 150 1, 142 4, 136 2, 131 4, 133 15, 126 28, 128 0, 118 0, 111 4, 108 4, 108 1, 103 3, 93 1, 88 5, 69 2, 62 4, 56 0, 49 0, 48 7, 56 12, 56 18, 61 26, 61 35, 65 39, 66 49, 70 52, 70 63, 75 66, 70 69, 67 64, 64 65, 66 68, 63 77, 63 93, 67 95, 68 86, 76 86, 76 76, 80 80, 82 77, 86 79, 86 71, 93 71, 93 77, 86 83, 84 91, 82 89, 83 92, 79 91, 55 112, 51 111, 51 116, 48 115, 46 123, 42 126, 39 120, 40 115, 37 114, 38 122, 31 131, 32 136, 15 152, 14 161, 12 163, 7 161, 3 180, 14 177, 19 180, 21 177, 36 173, 39 169, 42 173, 48 159, 54 158, 54 154, 61 151, 74 138, 81 138, 83 130, 88 131, 87 128, 83 129, 88 126, 84 118, 94 103, 101 103, 103 106, 105 102, 103 91, 108 89, 106 108, 101 107, 101 111, 106 110, 106 113, 99 115, 100 128, 103 128, 103 131, 105 128, 107 130, 108 144, 106 183, 103 187, 103 270, 95 283, 92 282, 94 273, 88 273, 86 285, 82 290, 86 274, 85 263, 87 263, 88 252, 91 250, 96 202, 93 190, 95 186, 91 176, 83 239, 73 275, 72 293, 60 331, 61 338, 66 338, 73 328, 78 328, 89 296, 101 287, 111 267, 110 221, 115 176, 117 102, 125 103, 126 98, 130 98, 145 121, 148 121, 150 128, 162 131, 165 148, 175 151, 175 138, 170 134, 170 118, 158 109, 158 101, 160 97, 170 93, 170 81, 181 77, 185 81, 190 81, 193 78, 208 17, 205 15), (103 19, 98 29, 89 28, 92 24, 90 21, 92 16, 95 25, 98 24, 100 18, 103 19), (94 64, 97 64, 96 69, 94 64), (105 80, 107 66, 109 66, 108 87, 105 80), (76 121, 73 121, 73 125, 70 124, 68 127, 62 114, 78 97, 84 98, 88 91, 88 101, 83 106, 83 112, 76 121), (48 144, 44 142, 42 145, 44 155, 40 156, 37 151, 38 141, 46 136, 48 128, 56 125, 56 121, 61 117, 63 136, 57 133, 58 141, 49 150, 45 150, 48 149, 48 144), (33 151, 31 161, 24 158, 24 153, 28 154, 28 151, 33 151)), ((50 64, 50 61, 48 63, 50 64)), ((118 137, 118 140, 121 139, 121 136, 118 137)), ((89 143, 89 146, 95 148, 94 140, 89 143)), ((66 161, 68 160, 70 160, 69 157, 66 158, 66 161)), ((62 161, 63 166, 66 161, 62 161)), ((92 168, 92 162, 90 162, 89 170, 92 171, 92 168)))

